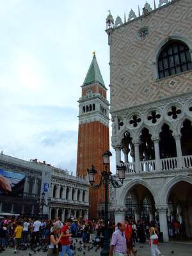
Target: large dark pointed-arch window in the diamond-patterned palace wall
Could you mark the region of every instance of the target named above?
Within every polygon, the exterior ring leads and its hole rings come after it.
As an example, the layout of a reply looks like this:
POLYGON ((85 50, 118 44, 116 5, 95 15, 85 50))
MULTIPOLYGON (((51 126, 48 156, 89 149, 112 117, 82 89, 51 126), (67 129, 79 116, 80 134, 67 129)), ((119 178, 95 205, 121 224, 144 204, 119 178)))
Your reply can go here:
POLYGON ((188 45, 172 40, 164 45, 158 58, 159 79, 192 69, 188 45))

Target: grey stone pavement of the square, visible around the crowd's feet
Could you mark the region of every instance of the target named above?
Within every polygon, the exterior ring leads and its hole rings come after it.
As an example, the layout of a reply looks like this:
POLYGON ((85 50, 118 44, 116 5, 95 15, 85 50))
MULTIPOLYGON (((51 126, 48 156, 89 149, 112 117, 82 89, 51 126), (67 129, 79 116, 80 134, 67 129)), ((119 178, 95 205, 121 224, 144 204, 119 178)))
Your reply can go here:
MULTIPOLYGON (((138 250, 137 256, 150 256, 150 247, 148 243, 145 244, 137 244, 136 250, 138 250), (144 245, 144 246, 143 246, 144 245), (140 248, 140 246, 143 246, 140 248)), ((160 243, 159 250, 164 256, 192 256, 192 244, 190 243, 160 243), (174 250, 174 254, 172 254, 172 250, 174 250)), ((15 255, 13 248, 7 248, 5 252, 0 253, 0 256, 10 256, 15 255)), ((35 256, 46 256, 47 253, 43 252, 31 252, 31 250, 20 251, 16 255, 18 256, 28 256, 29 253, 35 256)), ((95 248, 93 250, 82 250, 81 252, 76 250, 76 256, 99 256, 100 250, 95 252, 95 248), (85 255, 84 253, 85 252, 85 255)))

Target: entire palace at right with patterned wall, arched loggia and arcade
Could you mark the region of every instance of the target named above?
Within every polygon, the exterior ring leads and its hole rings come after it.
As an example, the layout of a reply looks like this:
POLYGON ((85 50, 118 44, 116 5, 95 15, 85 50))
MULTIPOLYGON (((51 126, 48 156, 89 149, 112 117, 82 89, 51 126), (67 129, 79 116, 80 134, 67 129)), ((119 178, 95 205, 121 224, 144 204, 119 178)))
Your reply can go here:
POLYGON ((160 0, 106 20, 110 47, 112 146, 127 166, 112 189, 115 220, 159 219, 192 236, 192 2, 160 0))

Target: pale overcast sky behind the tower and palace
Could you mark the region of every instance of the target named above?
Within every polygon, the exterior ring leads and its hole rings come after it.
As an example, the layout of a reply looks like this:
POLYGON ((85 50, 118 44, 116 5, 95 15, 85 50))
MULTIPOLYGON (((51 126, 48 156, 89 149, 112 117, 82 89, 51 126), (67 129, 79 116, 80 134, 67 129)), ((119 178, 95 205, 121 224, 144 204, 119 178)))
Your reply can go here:
MULTIPOLYGON (((92 51, 108 88, 105 19, 145 0, 0 0, 0 150, 76 173, 78 104, 92 51)), ((148 3, 153 6, 154 1, 148 3)), ((159 4, 159 0, 156 0, 159 4)), ((109 92, 109 91, 108 91, 109 92)), ((109 99, 109 95, 108 95, 109 99)), ((115 170, 114 157, 111 169, 115 170)))

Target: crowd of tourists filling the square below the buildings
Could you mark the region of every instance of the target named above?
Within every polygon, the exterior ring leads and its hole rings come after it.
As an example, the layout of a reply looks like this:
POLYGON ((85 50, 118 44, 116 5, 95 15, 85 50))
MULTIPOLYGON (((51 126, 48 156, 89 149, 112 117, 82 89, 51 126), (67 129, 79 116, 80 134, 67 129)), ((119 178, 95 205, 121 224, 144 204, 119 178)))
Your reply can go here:
MULTIPOLYGON (((125 220, 125 223, 115 225, 109 221, 109 239, 111 241, 110 253, 114 256, 127 256, 131 252, 136 256, 134 250, 136 244, 150 241, 152 256, 159 256, 161 253, 157 248, 159 238, 159 223, 148 221, 125 220)), ((173 235, 180 234, 180 225, 174 221, 172 226, 173 235)), ((99 221, 81 221, 69 218, 61 222, 60 218, 56 220, 31 220, 30 218, 4 218, 0 220, 0 252, 6 248, 14 248, 14 253, 19 250, 28 250, 33 252, 46 252, 48 256, 72 256, 72 250, 80 250, 95 246, 95 251, 104 246, 105 223, 99 221), (78 239, 81 237, 81 239, 78 239)), ((90 249, 91 250, 91 249, 90 249)))

